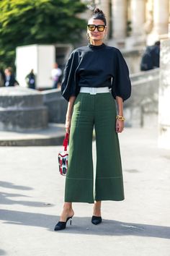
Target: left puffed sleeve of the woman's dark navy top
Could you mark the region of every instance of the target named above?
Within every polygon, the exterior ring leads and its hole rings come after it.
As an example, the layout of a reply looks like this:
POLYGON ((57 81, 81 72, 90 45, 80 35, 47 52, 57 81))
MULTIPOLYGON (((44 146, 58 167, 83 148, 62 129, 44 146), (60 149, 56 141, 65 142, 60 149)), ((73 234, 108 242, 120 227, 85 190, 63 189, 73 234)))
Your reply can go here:
POLYGON ((61 82, 61 95, 66 101, 69 101, 71 96, 76 96, 79 93, 79 88, 76 85, 76 68, 78 67, 79 58, 76 51, 73 51, 66 63, 63 72, 63 80, 61 82))

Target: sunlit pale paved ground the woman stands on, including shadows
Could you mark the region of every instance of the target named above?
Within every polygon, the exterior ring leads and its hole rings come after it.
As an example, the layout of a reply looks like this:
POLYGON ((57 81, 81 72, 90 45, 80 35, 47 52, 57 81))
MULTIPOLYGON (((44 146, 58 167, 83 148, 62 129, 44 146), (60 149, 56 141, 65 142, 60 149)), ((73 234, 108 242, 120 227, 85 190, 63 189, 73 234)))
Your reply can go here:
POLYGON ((169 256, 170 150, 156 139, 153 129, 125 129, 125 200, 103 202, 99 226, 91 224, 93 205, 75 203, 73 225, 60 232, 53 228, 63 205, 61 147, 1 147, 0 255, 169 256))

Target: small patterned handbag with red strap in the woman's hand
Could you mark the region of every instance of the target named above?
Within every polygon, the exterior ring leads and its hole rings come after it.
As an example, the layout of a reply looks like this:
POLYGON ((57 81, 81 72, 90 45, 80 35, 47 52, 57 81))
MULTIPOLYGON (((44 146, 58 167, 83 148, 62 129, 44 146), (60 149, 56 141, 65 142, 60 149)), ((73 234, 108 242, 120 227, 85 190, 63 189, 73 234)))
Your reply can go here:
POLYGON ((67 168, 68 168, 68 151, 67 151, 68 137, 69 137, 69 134, 66 133, 65 138, 63 140, 64 150, 58 153, 59 172, 63 176, 66 176, 67 168))

